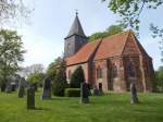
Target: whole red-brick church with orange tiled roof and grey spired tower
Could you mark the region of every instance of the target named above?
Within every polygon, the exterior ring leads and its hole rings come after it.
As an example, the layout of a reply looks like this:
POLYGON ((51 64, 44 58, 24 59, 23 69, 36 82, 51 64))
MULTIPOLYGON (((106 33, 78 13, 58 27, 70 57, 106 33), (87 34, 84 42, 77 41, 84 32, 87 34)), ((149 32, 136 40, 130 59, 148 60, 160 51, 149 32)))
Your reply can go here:
POLYGON ((131 30, 89 42, 76 14, 64 39, 67 81, 80 65, 85 82, 104 93, 127 91, 130 82, 136 84, 138 91, 152 91, 152 58, 131 30))

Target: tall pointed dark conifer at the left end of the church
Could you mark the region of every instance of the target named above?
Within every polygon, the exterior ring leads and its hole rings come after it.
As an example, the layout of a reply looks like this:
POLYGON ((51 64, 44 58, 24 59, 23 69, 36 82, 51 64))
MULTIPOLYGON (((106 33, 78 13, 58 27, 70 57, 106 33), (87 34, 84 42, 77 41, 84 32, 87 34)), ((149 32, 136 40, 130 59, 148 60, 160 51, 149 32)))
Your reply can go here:
POLYGON ((66 88, 66 74, 65 74, 65 62, 62 61, 53 80, 52 93, 54 96, 64 96, 64 89, 66 88))

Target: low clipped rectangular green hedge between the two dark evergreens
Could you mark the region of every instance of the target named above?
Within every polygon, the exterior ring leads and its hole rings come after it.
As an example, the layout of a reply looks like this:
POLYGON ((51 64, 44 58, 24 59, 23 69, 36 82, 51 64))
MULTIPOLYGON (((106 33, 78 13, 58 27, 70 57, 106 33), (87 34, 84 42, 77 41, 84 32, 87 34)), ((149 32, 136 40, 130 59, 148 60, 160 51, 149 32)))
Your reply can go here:
POLYGON ((66 88, 64 93, 65 97, 80 97, 79 88, 66 88))

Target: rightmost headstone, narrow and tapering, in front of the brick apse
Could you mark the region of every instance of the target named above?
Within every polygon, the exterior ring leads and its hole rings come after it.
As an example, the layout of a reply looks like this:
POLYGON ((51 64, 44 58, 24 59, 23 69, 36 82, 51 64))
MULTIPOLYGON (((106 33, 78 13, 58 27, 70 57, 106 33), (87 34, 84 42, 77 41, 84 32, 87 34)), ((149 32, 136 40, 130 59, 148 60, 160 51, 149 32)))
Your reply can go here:
POLYGON ((134 83, 130 83, 130 103, 138 103, 137 89, 134 83))

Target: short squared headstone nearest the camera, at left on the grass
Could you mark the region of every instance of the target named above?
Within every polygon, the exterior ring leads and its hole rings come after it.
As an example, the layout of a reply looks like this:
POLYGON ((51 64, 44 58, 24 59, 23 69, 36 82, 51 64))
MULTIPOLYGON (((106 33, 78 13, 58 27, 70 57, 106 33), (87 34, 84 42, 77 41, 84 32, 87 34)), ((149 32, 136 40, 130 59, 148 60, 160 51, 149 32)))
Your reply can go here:
POLYGON ((35 89, 33 87, 27 89, 27 109, 35 109, 35 89))

